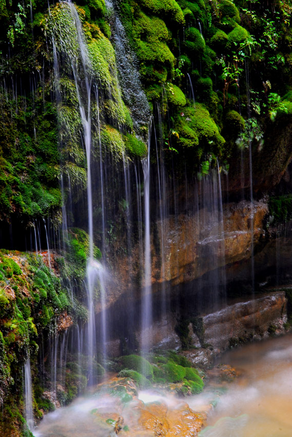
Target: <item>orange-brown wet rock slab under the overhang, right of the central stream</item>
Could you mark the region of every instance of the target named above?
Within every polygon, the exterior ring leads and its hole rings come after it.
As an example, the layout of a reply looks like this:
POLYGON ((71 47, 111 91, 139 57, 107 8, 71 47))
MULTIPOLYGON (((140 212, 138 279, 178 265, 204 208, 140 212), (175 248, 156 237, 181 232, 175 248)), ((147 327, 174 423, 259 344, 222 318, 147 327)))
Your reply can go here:
POLYGON ((209 270, 249 258, 252 239, 257 245, 264 233, 266 213, 265 203, 251 205, 243 201, 224 206, 223 222, 218 212, 206 209, 193 216, 166 219, 160 224, 165 233, 164 266, 154 277, 158 282, 171 281, 177 285, 199 278, 209 270))

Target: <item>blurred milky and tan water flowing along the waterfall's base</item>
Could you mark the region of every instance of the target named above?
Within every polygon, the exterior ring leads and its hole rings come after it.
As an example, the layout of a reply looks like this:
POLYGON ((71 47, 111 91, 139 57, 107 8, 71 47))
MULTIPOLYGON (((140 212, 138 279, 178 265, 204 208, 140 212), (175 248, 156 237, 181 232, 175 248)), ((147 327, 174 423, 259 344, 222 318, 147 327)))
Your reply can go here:
MULTIPOLYGON (((159 401, 167 405, 168 410, 178 410, 182 404, 185 409, 187 402, 194 411, 203 412, 216 400, 216 408, 209 412, 208 426, 200 432, 200 437, 291 437, 292 336, 249 344, 224 354, 220 362, 235 367, 240 373, 221 396, 218 397, 220 389, 216 387, 183 399, 142 392, 135 405, 127 404, 119 414, 122 413, 125 423, 131 424, 129 428, 133 430, 140 414, 133 416, 132 413, 141 401, 145 404, 159 401)), ((34 435, 108 437, 115 432, 105 418, 116 414, 116 400, 108 395, 79 398, 69 407, 47 414, 34 435)), ((131 434, 131 429, 121 432, 121 435, 131 434)), ((154 433, 152 429, 132 435, 150 437, 154 433)), ((184 436, 183 433, 178 435, 184 436)))

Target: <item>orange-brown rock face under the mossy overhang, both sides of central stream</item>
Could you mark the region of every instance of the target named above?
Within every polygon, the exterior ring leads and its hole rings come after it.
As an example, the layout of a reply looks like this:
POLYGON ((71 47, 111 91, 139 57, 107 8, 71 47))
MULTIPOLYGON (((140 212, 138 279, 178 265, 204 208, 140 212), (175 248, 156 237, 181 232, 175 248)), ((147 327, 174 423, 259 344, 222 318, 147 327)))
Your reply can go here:
MULTIPOLYGON (((208 271, 249 259, 251 243, 257 246, 264 235, 267 212, 263 201, 242 201, 224 205, 222 213, 203 208, 193 215, 169 216, 157 222, 156 236, 151 236, 152 285, 159 288, 164 282, 172 286, 183 284, 208 271)), ((117 288, 121 293, 126 290, 129 277, 139 275, 140 256, 137 245, 130 257, 121 257, 116 263, 117 288)), ((109 301, 115 299, 116 293, 115 289, 108 296, 109 301)))

